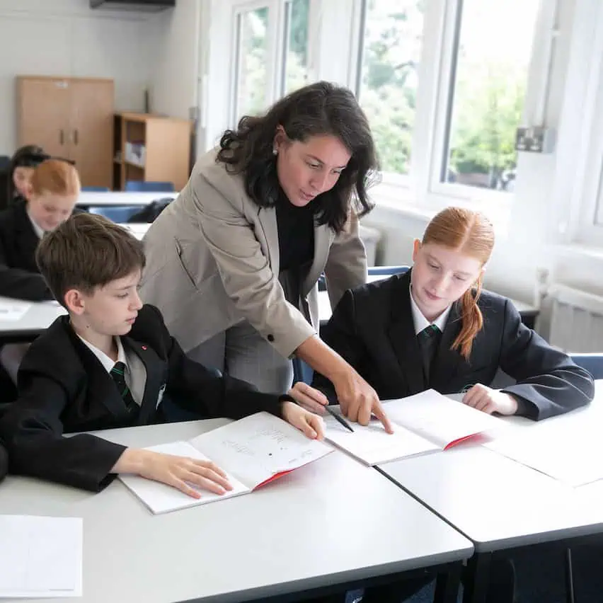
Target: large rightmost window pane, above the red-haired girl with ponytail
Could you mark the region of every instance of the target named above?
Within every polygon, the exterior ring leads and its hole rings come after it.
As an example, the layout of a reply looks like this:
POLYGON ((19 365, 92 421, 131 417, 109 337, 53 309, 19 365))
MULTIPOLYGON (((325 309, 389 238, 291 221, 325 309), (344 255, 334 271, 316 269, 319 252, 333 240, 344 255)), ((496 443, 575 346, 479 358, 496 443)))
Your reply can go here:
POLYGON ((512 191, 539 0, 464 0, 442 180, 512 191))

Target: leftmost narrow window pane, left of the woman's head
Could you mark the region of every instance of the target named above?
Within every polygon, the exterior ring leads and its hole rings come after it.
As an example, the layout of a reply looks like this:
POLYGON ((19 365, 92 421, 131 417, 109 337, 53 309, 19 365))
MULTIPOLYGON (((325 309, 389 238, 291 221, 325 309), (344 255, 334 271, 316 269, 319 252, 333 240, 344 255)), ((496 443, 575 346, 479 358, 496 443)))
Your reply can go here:
POLYGON ((237 66, 235 117, 255 115, 266 107, 268 7, 240 13, 236 19, 237 66))

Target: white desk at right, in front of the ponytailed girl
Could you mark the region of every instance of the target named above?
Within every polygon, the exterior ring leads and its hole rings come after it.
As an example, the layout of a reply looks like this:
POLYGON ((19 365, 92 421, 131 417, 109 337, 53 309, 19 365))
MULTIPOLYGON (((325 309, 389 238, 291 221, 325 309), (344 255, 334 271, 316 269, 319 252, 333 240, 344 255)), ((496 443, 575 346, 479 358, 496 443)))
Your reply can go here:
MULTIPOLYGON (((602 407, 603 382, 599 381, 592 406, 546 421, 577 428, 582 420, 600 417, 602 407)), ((515 417, 505 420, 525 429, 546 424, 515 417)), ((378 469, 473 541, 476 556, 470 570, 476 570, 492 551, 603 532, 601 484, 573 489, 476 445, 394 461, 378 469)), ((464 601, 481 602, 483 597, 481 587, 469 587, 464 601)))

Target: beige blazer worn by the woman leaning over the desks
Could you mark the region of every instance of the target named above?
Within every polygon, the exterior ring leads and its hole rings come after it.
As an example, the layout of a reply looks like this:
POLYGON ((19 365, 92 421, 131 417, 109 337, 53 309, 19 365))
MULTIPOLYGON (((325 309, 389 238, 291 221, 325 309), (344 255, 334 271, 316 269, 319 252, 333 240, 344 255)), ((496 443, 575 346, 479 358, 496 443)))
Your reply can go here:
POLYGON ((185 352, 246 319, 289 357, 318 332, 318 277, 325 272, 331 306, 346 289, 367 280, 357 218, 335 234, 315 226, 314 262, 300 284, 302 311, 285 299, 278 281, 276 211, 258 207, 243 176, 203 155, 190 180, 144 237, 147 265, 141 297, 158 306, 185 352))

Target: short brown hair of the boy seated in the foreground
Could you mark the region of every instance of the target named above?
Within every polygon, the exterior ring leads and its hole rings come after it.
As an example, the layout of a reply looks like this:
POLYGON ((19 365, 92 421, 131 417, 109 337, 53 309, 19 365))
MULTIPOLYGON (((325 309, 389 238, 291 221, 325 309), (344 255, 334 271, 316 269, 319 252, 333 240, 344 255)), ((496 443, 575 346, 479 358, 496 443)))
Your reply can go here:
POLYGON ((74 214, 42 237, 35 261, 55 299, 64 306, 69 289, 92 294, 144 268, 144 250, 123 226, 107 218, 74 214))

